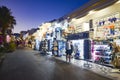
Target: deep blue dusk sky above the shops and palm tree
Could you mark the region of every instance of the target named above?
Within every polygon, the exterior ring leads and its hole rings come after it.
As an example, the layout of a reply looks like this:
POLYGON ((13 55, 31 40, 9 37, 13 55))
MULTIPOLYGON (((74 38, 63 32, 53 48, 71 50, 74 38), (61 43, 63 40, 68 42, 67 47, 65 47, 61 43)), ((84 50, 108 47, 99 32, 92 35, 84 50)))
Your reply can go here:
POLYGON ((0 6, 11 9, 17 21, 14 32, 20 32, 60 18, 88 1, 90 0, 0 0, 0 6))

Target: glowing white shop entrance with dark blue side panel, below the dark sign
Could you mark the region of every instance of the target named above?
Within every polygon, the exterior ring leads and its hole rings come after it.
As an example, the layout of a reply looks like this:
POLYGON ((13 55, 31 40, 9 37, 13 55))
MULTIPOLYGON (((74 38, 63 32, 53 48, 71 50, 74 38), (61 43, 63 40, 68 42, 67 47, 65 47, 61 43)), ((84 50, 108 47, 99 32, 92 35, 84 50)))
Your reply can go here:
POLYGON ((88 60, 90 55, 90 44, 88 39, 72 40, 75 59, 88 60))

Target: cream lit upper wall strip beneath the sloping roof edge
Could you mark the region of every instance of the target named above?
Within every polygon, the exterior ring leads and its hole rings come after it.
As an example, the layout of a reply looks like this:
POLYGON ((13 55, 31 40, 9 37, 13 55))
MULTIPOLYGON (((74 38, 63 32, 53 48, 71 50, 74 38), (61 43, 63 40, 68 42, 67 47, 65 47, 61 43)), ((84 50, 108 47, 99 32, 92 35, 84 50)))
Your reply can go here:
MULTIPOLYGON (((94 13, 91 13, 91 14, 89 13, 88 15, 86 15, 82 18, 73 19, 71 21, 71 23, 72 23, 72 25, 75 25, 76 27, 79 26, 79 25, 82 25, 81 28, 82 28, 82 31, 84 31, 83 24, 86 23, 86 22, 89 22, 89 20, 93 19, 93 23, 94 23, 96 20, 99 20, 100 18, 111 16, 115 13, 120 13, 120 3, 113 4, 113 5, 108 6, 104 9, 102 9, 102 10, 95 11, 94 13)), ((96 25, 93 25, 93 28, 95 28, 95 26, 96 25)))

